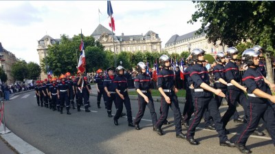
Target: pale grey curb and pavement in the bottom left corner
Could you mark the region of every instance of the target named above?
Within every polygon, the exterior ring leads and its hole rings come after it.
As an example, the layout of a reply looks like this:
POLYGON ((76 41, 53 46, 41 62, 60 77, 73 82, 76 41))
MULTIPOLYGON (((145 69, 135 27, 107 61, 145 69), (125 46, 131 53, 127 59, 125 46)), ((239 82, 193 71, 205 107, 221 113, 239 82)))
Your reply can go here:
MULTIPOLYGON (((5 127, 6 131, 10 131, 7 127, 5 127)), ((3 131, 3 124, 0 126, 0 132, 3 131)), ((6 133, 2 134, 1 137, 5 142, 8 142, 8 145, 11 146, 17 153, 21 154, 45 154, 34 146, 28 144, 20 137, 15 135, 14 133, 6 133)))

